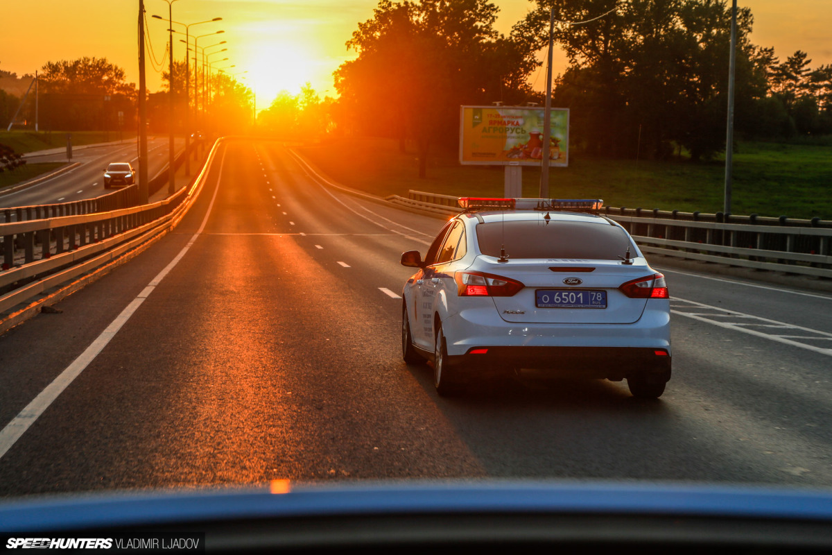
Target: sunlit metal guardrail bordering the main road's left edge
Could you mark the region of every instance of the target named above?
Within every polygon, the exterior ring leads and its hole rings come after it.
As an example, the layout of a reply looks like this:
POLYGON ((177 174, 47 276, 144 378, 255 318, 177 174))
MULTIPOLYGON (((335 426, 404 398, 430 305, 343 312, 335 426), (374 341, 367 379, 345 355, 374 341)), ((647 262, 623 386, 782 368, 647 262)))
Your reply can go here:
POLYGON ((0 271, 0 324, 2 314, 19 303, 106 264, 176 225, 200 191, 219 144, 215 143, 191 186, 164 201, 92 214, 0 223, 4 268, 0 271), (23 251, 19 264, 14 260, 17 247, 23 251))

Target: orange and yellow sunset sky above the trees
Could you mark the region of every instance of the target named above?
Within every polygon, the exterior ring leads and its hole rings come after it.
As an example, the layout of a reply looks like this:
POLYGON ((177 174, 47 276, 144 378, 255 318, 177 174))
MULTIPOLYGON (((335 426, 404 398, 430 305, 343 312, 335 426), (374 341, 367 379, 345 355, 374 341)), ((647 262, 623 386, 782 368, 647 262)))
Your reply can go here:
MULTIPOLYGON (((498 29, 508 33, 533 6, 528 0, 496 0, 500 8, 498 29)), ((215 37, 201 37, 199 46, 220 40, 226 44, 209 52, 215 67, 235 65, 227 71, 237 76, 257 94, 257 107, 268 106, 281 90, 298 92, 310 82, 319 94, 334 96, 332 72, 340 63, 355 56, 346 42, 359 21, 373 15, 377 0, 176 0, 173 19, 200 22, 191 27, 192 35, 225 31, 215 37), (228 57, 228 62, 220 62, 228 57)), ((18 75, 32 73, 45 62, 82 56, 106 57, 123 67, 129 82, 138 82, 136 14, 138 0, 0 0, 0 69, 18 75)), ((152 14, 168 15, 164 0, 145 0, 150 22, 150 37, 161 57, 167 41, 167 22, 152 19, 152 14)), ((773 46, 784 59, 797 49, 809 52, 812 67, 832 62, 832 2, 830 0, 745 0, 755 16, 752 41, 773 46)), ((175 29, 184 28, 175 25, 175 29)), ((184 57, 184 35, 174 35, 174 55, 184 57)), ((147 53, 150 57, 150 52, 147 53)), ((556 55, 555 72, 565 67, 565 58, 556 55)), ((532 76, 535 87, 544 78, 532 76)), ((151 91, 161 87, 160 73, 147 63, 147 83, 151 91)))

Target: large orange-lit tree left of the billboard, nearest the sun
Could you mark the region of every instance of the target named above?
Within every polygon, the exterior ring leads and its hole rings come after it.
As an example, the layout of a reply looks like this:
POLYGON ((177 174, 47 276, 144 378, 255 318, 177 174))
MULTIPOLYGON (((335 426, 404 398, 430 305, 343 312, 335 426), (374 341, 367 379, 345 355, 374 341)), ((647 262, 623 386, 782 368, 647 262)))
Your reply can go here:
POLYGON ((403 149, 414 138, 425 177, 430 144, 458 141, 460 105, 527 94, 534 49, 496 32, 497 13, 486 0, 381 0, 347 42, 359 57, 335 72, 351 124, 403 149))

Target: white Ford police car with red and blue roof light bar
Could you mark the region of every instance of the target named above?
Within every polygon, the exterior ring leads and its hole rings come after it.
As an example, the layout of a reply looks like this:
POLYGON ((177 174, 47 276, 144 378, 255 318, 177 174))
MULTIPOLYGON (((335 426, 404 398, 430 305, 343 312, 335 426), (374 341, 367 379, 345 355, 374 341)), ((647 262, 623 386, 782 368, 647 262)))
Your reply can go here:
POLYGON ((657 398, 671 377, 670 300, 602 201, 461 198, 404 285, 404 360, 433 362, 441 395, 492 369, 627 380, 657 398))

